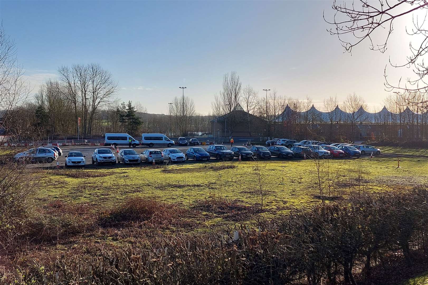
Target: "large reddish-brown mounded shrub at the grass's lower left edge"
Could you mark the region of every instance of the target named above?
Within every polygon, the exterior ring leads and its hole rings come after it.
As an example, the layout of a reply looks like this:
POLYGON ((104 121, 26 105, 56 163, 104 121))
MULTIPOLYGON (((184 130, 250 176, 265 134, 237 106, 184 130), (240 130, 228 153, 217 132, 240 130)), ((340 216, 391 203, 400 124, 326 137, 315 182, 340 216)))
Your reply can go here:
POLYGON ((175 204, 153 199, 131 198, 101 214, 102 227, 128 226, 130 223, 148 223, 152 226, 193 228, 200 213, 175 204))

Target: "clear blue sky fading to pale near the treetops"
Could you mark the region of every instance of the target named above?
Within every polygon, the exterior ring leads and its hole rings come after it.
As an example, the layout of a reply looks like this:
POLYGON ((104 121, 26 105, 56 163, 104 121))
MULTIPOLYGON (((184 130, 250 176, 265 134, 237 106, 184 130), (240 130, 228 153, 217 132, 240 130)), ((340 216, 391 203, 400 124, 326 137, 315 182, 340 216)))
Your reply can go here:
POLYGON ((343 53, 322 18, 331 3, 0 0, 0 17, 35 89, 60 65, 98 62, 119 82, 119 98, 150 113, 167 113, 178 86, 187 86, 199 113, 210 112, 232 70, 261 95, 276 88, 320 105, 356 92, 383 105, 383 68, 408 42, 392 39, 382 55, 367 45, 343 53))

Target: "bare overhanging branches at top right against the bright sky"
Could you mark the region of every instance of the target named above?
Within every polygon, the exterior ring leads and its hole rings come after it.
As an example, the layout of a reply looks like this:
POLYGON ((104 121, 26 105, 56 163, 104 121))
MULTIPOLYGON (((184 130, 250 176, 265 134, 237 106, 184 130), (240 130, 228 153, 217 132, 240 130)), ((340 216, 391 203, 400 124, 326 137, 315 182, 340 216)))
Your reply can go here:
MULTIPOLYGON (((412 68, 415 78, 407 78, 404 83, 390 83, 384 71, 385 87, 387 91, 401 90, 401 96, 409 104, 422 105, 427 110, 428 100, 419 101, 417 93, 427 93, 428 65, 424 56, 428 51, 428 28, 426 23, 428 2, 426 0, 399 0, 399 1, 367 1, 359 0, 347 5, 347 1, 333 1, 332 9, 335 14, 331 20, 325 20, 335 27, 328 31, 336 35, 345 51, 351 53, 352 48, 361 42, 368 41, 371 50, 384 53, 388 40, 393 32, 393 23, 396 19, 412 16, 412 27, 406 27, 406 33, 418 38, 417 44, 410 42, 410 54, 401 63, 389 64, 396 68, 412 68), (417 11, 425 10, 425 17, 418 17, 417 11), (376 33, 378 32, 378 33, 376 33), (376 36, 375 36, 376 35, 376 36), (383 36, 382 36, 383 35, 383 36), (379 37, 378 37, 379 36, 379 37)), ((324 17, 325 19, 325 17, 324 17)))

